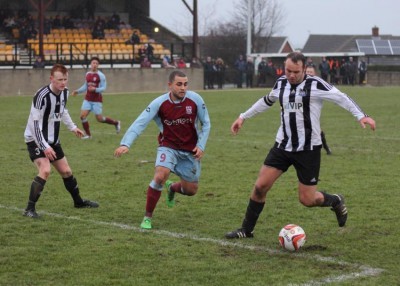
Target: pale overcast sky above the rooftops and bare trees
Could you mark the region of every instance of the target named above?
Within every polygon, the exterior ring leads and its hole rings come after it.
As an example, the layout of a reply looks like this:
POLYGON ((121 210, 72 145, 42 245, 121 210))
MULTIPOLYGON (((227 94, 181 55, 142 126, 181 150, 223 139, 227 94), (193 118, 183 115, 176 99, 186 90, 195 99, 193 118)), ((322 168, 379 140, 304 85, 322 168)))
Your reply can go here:
MULTIPOLYGON (((207 23, 230 18, 232 3, 241 0, 198 0, 199 32, 207 23)), ((303 48, 309 34, 380 34, 400 36, 400 0, 276 0, 286 25, 275 36, 286 36, 294 48, 303 48)), ((193 0, 186 0, 193 7, 193 0)), ((191 33, 191 15, 182 0, 150 0, 150 16, 184 36, 191 33)))

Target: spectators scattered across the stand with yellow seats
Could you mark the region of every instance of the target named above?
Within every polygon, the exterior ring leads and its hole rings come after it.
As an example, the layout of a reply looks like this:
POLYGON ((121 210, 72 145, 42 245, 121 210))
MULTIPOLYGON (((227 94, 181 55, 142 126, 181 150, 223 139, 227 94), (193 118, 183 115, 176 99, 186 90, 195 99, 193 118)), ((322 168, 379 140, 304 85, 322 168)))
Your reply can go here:
MULTIPOLYGON (((7 6, 7 5, 5 5, 7 6)), ((91 29, 93 39, 104 39, 106 29, 121 30, 131 28, 121 20, 117 12, 107 17, 95 14, 96 1, 87 0, 73 6, 68 13, 50 13, 44 16, 43 34, 48 35, 52 29, 91 29)), ((21 47, 28 47, 29 39, 36 39, 39 33, 39 21, 35 19, 26 9, 14 11, 9 8, 0 8, 1 31, 5 32, 14 43, 21 47)), ((139 59, 142 67, 151 67, 151 64, 158 62, 154 57, 154 47, 151 41, 141 43, 137 30, 134 30, 126 44, 139 45, 139 59)), ((43 58, 40 58, 38 66, 43 65, 43 58)), ((172 68, 186 68, 183 58, 175 57, 163 59, 162 66, 172 68)))

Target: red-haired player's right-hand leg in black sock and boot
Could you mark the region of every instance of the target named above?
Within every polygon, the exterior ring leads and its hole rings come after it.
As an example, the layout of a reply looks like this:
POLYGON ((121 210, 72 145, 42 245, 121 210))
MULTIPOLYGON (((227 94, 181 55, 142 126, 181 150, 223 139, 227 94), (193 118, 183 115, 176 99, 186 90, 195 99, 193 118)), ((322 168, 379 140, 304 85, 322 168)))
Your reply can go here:
POLYGON ((76 208, 97 208, 99 206, 98 203, 81 198, 78 182, 72 174, 72 170, 68 164, 67 158, 64 156, 61 146, 56 145, 55 151, 57 153, 57 157, 61 159, 52 162, 52 164, 57 172, 61 175, 65 189, 70 193, 74 201, 74 206, 76 208))

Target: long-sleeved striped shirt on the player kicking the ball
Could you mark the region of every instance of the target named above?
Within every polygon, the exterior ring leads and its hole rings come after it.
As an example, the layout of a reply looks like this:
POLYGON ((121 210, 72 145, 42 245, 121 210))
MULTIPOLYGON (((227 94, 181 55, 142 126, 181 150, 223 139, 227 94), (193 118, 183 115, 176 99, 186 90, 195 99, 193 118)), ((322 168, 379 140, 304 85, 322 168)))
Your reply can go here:
POLYGON ((280 77, 272 91, 240 117, 251 118, 279 101, 281 126, 276 135, 278 147, 289 152, 313 150, 314 146, 322 144, 320 116, 324 100, 348 110, 357 120, 367 116, 345 93, 317 76, 307 75, 298 85, 291 85, 286 76, 280 77))

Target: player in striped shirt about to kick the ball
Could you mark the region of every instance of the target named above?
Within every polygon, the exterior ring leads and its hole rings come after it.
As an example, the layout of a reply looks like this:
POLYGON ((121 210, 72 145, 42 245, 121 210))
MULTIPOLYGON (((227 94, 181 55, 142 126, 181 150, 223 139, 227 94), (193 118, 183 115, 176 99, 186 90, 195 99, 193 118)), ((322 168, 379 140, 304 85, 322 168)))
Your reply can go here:
POLYGON ((347 208, 343 196, 317 190, 321 163, 320 115, 323 101, 334 102, 348 110, 363 128, 367 124, 375 130, 375 121, 336 87, 319 77, 306 75, 305 62, 304 55, 299 52, 288 54, 285 75, 276 81, 269 94, 240 114, 231 126, 232 133, 236 135, 246 119, 268 110, 275 103, 280 105, 281 126, 276 135, 276 142, 260 169, 242 226, 228 232, 226 238, 253 237, 253 230, 264 208, 267 192, 292 165, 299 180, 300 202, 307 207, 330 207, 336 214, 339 227, 346 224, 347 208))

